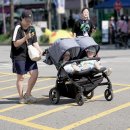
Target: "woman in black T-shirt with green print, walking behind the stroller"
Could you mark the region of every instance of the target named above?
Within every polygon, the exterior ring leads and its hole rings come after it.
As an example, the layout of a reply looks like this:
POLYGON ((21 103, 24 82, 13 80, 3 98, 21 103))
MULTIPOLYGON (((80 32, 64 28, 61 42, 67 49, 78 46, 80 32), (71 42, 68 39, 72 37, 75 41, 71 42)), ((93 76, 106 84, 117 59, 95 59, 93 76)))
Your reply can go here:
POLYGON ((88 8, 83 8, 81 19, 77 20, 73 27, 73 34, 75 36, 91 36, 91 33, 96 29, 89 18, 88 8))

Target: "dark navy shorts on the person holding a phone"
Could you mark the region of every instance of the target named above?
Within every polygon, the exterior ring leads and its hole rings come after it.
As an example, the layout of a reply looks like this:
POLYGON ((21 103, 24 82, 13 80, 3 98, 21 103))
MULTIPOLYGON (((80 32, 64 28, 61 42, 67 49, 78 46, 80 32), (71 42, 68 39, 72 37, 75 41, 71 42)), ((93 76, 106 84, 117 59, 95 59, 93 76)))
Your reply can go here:
POLYGON ((27 72, 31 70, 38 69, 37 63, 35 61, 19 61, 19 60, 13 60, 13 73, 16 74, 26 74, 27 72))

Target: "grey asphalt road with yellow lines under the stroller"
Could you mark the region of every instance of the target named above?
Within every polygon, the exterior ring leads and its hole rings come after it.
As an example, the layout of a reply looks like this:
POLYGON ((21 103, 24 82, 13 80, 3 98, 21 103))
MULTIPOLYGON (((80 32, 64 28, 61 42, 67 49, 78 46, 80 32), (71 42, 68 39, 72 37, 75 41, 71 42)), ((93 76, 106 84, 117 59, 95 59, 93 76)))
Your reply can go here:
MULTIPOLYGON (((44 47, 43 47, 44 48, 44 47)), ((18 104, 16 75, 11 72, 10 47, 0 46, 0 130, 130 130, 130 50, 101 49, 104 66, 111 67, 114 98, 106 101, 106 86, 99 86, 83 106, 61 97, 52 105, 49 90, 55 86, 55 66, 38 62, 39 78, 32 91, 36 104, 18 104)), ((44 57, 43 57, 44 58, 44 57)), ((24 88, 26 89, 25 76, 24 88)))

